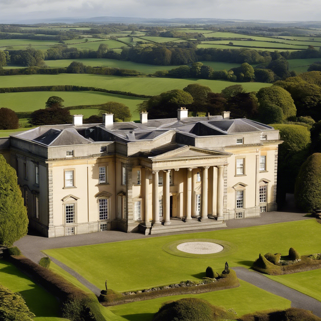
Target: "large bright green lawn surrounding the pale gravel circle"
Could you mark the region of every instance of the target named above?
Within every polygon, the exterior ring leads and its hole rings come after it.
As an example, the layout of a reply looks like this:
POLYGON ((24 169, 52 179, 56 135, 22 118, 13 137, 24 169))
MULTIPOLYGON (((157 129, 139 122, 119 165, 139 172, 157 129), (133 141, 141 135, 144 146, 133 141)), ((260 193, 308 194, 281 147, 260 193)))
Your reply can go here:
POLYGON ((231 267, 250 267, 259 253, 281 252, 286 255, 290 247, 294 247, 302 255, 320 253, 320 231, 321 225, 315 220, 305 220, 50 249, 45 252, 70 266, 99 288, 104 287, 107 279, 110 288, 126 291, 197 279, 204 276, 209 265, 222 271, 226 261, 231 267), (225 240, 238 247, 238 250, 214 259, 174 256, 162 250, 167 243, 197 238, 225 240), (95 273, 92 273, 93 269, 95 273), (133 271, 135 275, 142 277, 133 277, 133 271))

